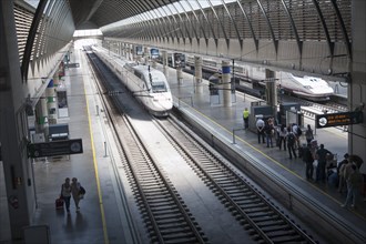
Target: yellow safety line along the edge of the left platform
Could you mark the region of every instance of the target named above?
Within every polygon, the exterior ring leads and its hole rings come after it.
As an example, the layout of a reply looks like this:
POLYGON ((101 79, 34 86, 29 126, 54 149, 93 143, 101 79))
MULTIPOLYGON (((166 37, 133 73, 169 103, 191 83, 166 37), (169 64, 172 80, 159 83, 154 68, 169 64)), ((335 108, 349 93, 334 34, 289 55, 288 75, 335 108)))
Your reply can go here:
MULTIPOLYGON (((85 84, 84 84, 84 94, 87 94, 85 84)), ((95 171, 99 205, 100 205, 100 210, 101 210, 102 224, 103 224, 104 244, 109 244, 106 222, 105 222, 104 207, 103 207, 103 199, 102 199, 101 184, 100 184, 100 181, 99 181, 99 172, 98 172, 96 157, 95 157, 93 130, 92 130, 91 120, 90 120, 89 102, 88 102, 87 95, 85 95, 85 101, 87 101, 87 113, 88 113, 88 121, 89 121, 90 141, 91 141, 91 148, 92 148, 92 152, 93 152, 93 164, 94 164, 94 171, 95 171)))

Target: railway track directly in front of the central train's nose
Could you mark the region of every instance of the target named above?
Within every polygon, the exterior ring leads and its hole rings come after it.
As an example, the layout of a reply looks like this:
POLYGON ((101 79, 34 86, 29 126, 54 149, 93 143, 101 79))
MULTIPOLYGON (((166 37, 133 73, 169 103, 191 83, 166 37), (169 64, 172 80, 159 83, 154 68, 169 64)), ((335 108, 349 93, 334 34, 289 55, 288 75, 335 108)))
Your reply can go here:
POLYGON ((317 243, 204 142, 169 119, 155 121, 203 182, 258 243, 317 243))

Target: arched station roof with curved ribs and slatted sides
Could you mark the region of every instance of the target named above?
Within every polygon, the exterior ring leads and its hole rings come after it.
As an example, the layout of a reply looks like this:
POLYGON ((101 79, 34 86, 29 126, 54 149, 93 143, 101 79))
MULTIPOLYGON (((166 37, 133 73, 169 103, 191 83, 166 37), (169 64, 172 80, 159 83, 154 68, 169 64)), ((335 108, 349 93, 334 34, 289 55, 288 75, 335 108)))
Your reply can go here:
POLYGON ((39 62, 85 23, 101 28, 111 40, 144 41, 157 47, 167 41, 170 48, 176 45, 177 50, 182 40, 183 50, 202 48, 203 52, 217 54, 220 49, 224 55, 236 54, 234 59, 291 64, 298 70, 339 72, 349 69, 345 67, 352 60, 352 0, 40 0, 42 2, 47 3, 40 14, 16 8, 21 60, 24 53, 29 55, 24 40, 31 35, 29 60, 39 62), (218 42, 226 42, 226 54, 218 42))

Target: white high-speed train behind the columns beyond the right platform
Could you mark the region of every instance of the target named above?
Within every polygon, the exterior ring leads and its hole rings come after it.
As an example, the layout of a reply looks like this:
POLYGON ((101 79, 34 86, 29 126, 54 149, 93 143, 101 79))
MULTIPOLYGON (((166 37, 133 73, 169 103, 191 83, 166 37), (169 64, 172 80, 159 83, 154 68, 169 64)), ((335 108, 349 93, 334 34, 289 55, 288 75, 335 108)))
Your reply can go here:
MULTIPOLYGON (((193 57, 187 57, 186 64, 194 65, 193 57)), ((204 72, 215 73, 221 71, 221 63, 213 59, 203 59, 202 65, 204 72)), ((265 68, 236 63, 234 65, 234 75, 236 81, 240 80, 240 83, 251 82, 264 85, 264 80, 266 79, 265 68)), ((321 78, 296 77, 283 71, 276 71, 275 78, 277 79, 277 87, 281 87, 281 89, 308 100, 326 101, 329 100, 329 95, 334 94, 333 88, 321 78)))

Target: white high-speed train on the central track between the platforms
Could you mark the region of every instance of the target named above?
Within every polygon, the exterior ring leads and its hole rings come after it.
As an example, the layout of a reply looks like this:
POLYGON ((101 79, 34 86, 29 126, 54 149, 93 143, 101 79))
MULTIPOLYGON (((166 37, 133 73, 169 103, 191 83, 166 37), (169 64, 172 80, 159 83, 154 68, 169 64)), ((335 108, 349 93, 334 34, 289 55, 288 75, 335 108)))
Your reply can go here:
POLYGON ((163 72, 150 65, 123 60, 101 47, 93 45, 92 50, 151 114, 169 115, 173 108, 173 98, 163 72))

